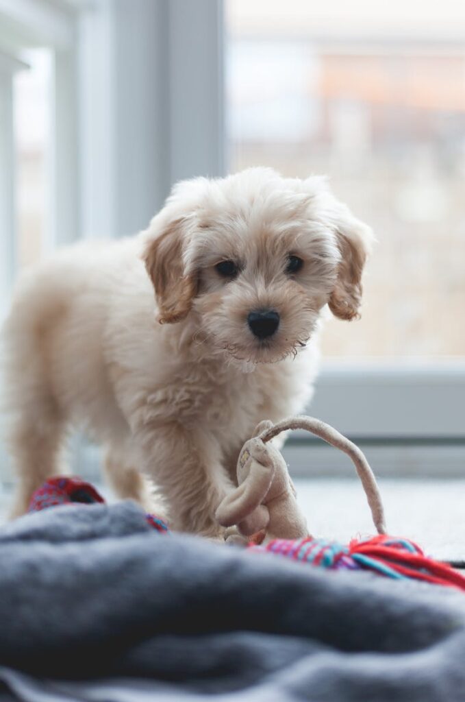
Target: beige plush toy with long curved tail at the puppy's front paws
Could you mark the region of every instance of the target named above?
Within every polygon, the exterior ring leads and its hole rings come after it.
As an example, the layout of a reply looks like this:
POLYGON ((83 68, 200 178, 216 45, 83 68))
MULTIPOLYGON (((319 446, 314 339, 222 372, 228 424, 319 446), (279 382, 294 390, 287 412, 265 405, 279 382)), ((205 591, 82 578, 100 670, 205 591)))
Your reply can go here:
MULTIPOLYGON (((330 425, 304 416, 285 419, 276 425, 264 420, 257 426, 254 436, 245 442, 238 458, 238 487, 217 508, 218 522, 223 527, 235 525, 239 534, 246 538, 265 531, 262 543, 275 538, 309 536, 305 517, 297 505, 288 467, 278 449, 269 443, 280 432, 290 429, 306 429, 351 457, 365 489, 375 527, 379 534, 385 534, 382 499, 362 451, 330 425)), ((237 532, 227 532, 227 541, 244 539, 237 532)))

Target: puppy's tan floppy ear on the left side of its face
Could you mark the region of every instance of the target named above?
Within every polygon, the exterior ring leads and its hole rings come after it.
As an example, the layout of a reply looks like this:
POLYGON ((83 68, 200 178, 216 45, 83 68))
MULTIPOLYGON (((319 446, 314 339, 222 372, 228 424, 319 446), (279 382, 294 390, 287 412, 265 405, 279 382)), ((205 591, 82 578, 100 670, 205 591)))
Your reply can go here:
POLYGON ((183 241, 186 230, 185 218, 168 222, 160 234, 147 239, 142 255, 155 289, 160 324, 180 322, 187 317, 197 293, 196 274, 184 273, 183 241))

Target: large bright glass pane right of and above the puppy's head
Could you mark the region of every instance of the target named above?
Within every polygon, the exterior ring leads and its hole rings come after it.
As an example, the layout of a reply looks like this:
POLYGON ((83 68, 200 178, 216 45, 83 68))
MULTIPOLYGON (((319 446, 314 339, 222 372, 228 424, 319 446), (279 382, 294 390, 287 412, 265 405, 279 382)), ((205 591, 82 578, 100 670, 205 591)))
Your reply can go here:
POLYGON ((405 4, 386 4, 384 29, 330 5, 228 1, 229 166, 327 173, 374 228, 362 319, 328 322, 326 357, 465 356, 463 13, 447 24, 426 3, 424 39, 405 4))

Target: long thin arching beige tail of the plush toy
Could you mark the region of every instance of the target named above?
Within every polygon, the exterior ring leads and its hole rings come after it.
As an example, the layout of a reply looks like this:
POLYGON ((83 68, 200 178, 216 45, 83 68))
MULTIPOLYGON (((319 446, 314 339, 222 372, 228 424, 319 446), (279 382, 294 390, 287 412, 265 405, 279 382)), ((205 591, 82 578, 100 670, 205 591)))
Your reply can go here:
POLYGON ((351 458, 358 477, 360 478, 360 482, 363 485, 363 489, 365 490, 368 505, 370 505, 372 513, 372 519, 378 534, 386 534, 384 507, 376 478, 365 455, 360 451, 358 446, 340 434, 335 428, 322 422, 321 419, 305 416, 283 419, 269 429, 265 429, 259 436, 262 442, 266 444, 278 434, 281 434, 281 432, 289 429, 306 429, 308 432, 323 439, 327 444, 344 451, 344 453, 351 458))

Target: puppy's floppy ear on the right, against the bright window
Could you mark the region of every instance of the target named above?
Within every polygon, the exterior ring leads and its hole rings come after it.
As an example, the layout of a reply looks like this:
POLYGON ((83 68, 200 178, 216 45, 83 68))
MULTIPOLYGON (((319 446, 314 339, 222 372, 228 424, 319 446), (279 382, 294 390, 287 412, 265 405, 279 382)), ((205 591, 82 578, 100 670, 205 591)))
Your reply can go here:
POLYGON ((356 319, 362 300, 363 267, 371 251, 372 231, 341 204, 333 222, 341 259, 328 304, 332 314, 339 319, 356 319))

